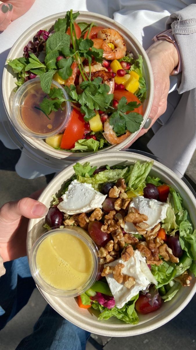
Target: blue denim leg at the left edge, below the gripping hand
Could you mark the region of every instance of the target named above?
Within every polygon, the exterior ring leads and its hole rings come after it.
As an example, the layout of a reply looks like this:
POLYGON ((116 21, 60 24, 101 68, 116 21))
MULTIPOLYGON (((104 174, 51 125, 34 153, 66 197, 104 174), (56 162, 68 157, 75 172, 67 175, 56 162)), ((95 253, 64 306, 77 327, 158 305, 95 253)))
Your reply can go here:
POLYGON ((6 273, 0 278, 0 329, 27 304, 35 288, 27 257, 5 262, 4 266, 6 273))

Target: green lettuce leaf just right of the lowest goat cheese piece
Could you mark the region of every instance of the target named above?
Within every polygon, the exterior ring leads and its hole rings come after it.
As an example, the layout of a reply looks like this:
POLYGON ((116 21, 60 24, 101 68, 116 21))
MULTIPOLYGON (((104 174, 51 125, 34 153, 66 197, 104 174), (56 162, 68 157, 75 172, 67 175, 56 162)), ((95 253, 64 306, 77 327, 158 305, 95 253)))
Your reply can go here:
POLYGON ((163 263, 159 266, 151 265, 151 272, 158 282, 156 288, 160 288, 174 279, 176 264, 163 260, 163 263))

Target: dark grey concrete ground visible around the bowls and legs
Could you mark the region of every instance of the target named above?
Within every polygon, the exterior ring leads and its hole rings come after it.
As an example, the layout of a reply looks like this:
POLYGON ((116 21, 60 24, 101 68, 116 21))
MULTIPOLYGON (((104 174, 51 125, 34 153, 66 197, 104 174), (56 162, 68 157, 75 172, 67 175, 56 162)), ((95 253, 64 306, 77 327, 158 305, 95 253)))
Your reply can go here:
MULTIPOLYGON (((145 139, 144 144, 145 144, 145 139)), ((135 143, 136 144, 136 143, 135 143)), ((147 151, 140 144, 135 148, 147 151)), ((50 176, 34 180, 21 179, 14 171, 15 163, 20 157, 19 150, 9 150, 0 144, 0 206, 10 200, 17 200, 43 188, 50 176)), ((188 179, 195 188, 196 153, 187 169, 188 179)), ((30 334, 33 325, 46 306, 46 301, 37 289, 34 290, 28 304, 0 331, 0 350, 14 350, 25 336, 30 334)), ((147 334, 126 337, 106 338, 92 335, 86 350, 184 350, 196 349, 196 296, 187 307, 172 321, 147 334)), ((63 350, 63 349, 62 349, 63 350)), ((71 349, 75 350, 75 349, 71 349)))

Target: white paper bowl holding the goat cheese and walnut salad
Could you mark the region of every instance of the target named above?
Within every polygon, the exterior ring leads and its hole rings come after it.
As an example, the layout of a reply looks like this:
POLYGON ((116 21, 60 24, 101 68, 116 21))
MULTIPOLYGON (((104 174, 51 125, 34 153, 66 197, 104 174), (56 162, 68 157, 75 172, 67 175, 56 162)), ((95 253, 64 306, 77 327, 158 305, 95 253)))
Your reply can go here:
MULTIPOLYGON (((113 166, 116 164, 133 163, 136 160, 146 161, 150 158, 131 153, 131 152, 103 152, 96 155, 91 155, 80 160, 83 164, 86 161, 90 162, 91 166, 97 166, 98 168, 108 164, 113 166)), ((39 201, 44 203, 48 208, 51 203, 51 195, 61 193, 61 190, 65 182, 74 174, 73 166, 68 166, 62 170, 45 188, 39 201)), ((196 227, 196 199, 187 187, 187 185, 176 176, 171 170, 162 164, 154 161, 153 168, 150 173, 152 176, 160 177, 165 183, 175 188, 183 198, 184 207, 189 211, 191 220, 196 227)), ((31 250, 31 247, 35 240, 42 235, 45 231, 43 228, 44 219, 32 219, 29 221, 28 235, 27 235, 27 252, 31 250)), ((39 289, 40 290, 40 289, 39 289)), ((131 325, 124 323, 115 318, 110 318, 107 321, 98 321, 96 312, 93 313, 90 310, 81 309, 78 307, 74 298, 58 298, 50 294, 47 294, 40 290, 47 302, 63 317, 70 322, 74 323, 78 327, 81 327, 89 332, 111 337, 124 337, 142 334, 153 329, 160 327, 166 322, 175 317, 191 300, 196 292, 196 279, 191 281, 190 287, 182 287, 176 296, 169 302, 163 303, 161 308, 148 315, 139 315, 140 323, 137 325, 131 325)))

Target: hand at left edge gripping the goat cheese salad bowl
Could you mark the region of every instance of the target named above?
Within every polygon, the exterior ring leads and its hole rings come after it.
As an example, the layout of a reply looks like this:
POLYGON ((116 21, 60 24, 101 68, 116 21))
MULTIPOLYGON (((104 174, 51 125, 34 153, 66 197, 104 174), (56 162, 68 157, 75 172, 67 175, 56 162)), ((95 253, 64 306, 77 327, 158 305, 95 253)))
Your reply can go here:
MULTIPOLYGON (((32 195, 37 198, 40 191, 32 195)), ((0 255, 3 261, 26 255, 26 237, 29 219, 47 214, 46 206, 32 198, 8 202, 0 208, 0 255)))

